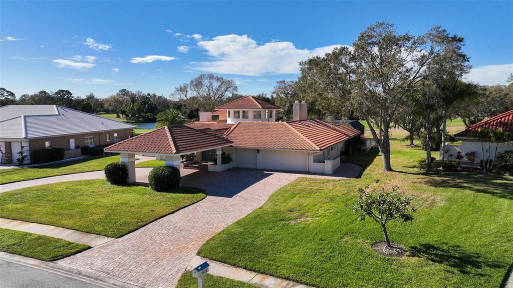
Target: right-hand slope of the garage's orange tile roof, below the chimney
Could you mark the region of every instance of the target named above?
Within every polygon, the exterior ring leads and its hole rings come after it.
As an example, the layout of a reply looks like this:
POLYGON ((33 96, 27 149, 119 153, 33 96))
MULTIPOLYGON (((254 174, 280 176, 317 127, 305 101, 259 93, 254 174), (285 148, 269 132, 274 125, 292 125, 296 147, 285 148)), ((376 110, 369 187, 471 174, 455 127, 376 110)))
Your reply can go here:
POLYGON ((333 125, 316 119, 288 121, 287 124, 319 147, 319 150, 361 134, 360 131, 350 126, 333 125))

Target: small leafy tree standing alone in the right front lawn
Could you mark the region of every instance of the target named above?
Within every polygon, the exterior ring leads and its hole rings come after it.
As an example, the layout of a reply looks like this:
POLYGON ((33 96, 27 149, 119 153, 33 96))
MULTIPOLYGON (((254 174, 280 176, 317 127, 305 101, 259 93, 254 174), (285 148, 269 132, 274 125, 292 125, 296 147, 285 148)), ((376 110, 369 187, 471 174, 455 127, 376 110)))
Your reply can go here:
POLYGON ((385 237, 385 248, 383 253, 392 255, 397 253, 399 248, 395 248, 390 243, 386 223, 390 220, 400 219, 404 222, 413 220, 412 212, 416 211, 411 207, 411 197, 401 196, 397 186, 387 190, 385 186, 378 189, 369 187, 359 189, 360 196, 358 202, 353 206, 353 211, 360 214, 360 220, 371 218, 381 226, 383 236, 385 237))

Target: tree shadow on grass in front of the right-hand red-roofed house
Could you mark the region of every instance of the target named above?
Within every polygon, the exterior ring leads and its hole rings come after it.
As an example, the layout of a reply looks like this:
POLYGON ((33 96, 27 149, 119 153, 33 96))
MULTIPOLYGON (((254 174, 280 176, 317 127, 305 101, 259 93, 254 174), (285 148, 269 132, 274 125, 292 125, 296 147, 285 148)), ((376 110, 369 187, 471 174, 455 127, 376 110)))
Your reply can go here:
POLYGON ((421 183, 437 188, 465 189, 496 197, 513 200, 513 179, 508 176, 472 173, 429 173, 424 174, 421 183))

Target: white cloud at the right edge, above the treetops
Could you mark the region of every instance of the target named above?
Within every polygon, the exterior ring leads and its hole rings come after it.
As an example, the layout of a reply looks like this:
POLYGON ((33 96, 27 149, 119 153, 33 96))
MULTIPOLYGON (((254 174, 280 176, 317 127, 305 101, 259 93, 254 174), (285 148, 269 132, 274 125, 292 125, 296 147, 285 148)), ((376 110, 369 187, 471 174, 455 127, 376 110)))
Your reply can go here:
POLYGON ((508 75, 513 73, 513 63, 473 67, 464 79, 481 85, 507 85, 508 75))

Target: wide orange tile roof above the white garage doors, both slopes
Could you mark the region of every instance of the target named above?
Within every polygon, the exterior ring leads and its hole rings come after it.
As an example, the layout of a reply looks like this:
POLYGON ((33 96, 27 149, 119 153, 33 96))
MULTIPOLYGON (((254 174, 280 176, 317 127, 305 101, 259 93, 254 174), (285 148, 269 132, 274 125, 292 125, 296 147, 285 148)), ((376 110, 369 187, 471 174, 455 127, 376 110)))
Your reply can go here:
POLYGON ((241 121, 225 134, 233 147, 321 151, 361 132, 322 120, 241 121))

